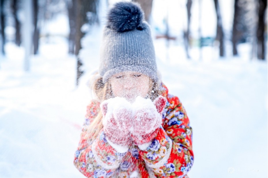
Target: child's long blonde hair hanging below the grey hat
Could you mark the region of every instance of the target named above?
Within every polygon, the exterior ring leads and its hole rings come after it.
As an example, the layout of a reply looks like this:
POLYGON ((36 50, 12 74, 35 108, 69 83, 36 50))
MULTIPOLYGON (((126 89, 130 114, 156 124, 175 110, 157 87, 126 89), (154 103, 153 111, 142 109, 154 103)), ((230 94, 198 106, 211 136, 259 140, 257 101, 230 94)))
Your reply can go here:
MULTIPOLYGON (((98 73, 95 73, 93 76, 93 83, 91 83, 90 88, 96 99, 101 103, 104 100, 109 98, 113 98, 112 87, 110 81, 108 80, 106 83, 103 83, 103 78, 99 76, 98 73), (97 76, 97 77, 96 77, 97 76)), ((150 80, 150 90, 148 91, 148 98, 152 101, 155 100, 159 95, 161 95, 161 91, 159 88, 158 82, 154 82, 152 79, 150 80)), ((98 115, 88 126, 88 136, 90 139, 94 140, 99 135, 100 130, 103 128, 102 125, 102 113, 99 111, 98 115)))

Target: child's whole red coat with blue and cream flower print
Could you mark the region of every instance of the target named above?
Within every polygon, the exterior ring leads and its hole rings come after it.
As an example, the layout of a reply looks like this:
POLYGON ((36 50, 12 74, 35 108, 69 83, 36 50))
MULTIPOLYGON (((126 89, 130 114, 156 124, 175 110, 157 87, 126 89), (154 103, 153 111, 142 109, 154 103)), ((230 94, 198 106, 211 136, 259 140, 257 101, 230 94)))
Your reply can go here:
POLYGON ((86 177, 188 177, 194 160, 192 128, 179 98, 168 94, 164 84, 161 86, 167 98, 163 124, 144 151, 133 145, 126 153, 119 153, 107 142, 103 131, 95 140, 85 139, 88 125, 100 111, 99 102, 93 100, 88 105, 74 158, 81 173, 86 177))

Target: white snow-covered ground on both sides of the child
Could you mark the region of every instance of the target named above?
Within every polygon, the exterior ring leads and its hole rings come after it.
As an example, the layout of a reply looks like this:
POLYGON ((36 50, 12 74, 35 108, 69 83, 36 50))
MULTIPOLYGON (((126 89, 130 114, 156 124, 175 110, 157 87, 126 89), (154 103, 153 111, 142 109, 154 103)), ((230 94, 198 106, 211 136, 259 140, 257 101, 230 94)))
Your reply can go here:
MULTIPOLYGON (((83 41, 85 75, 75 87, 76 60, 61 37, 41 40, 39 55, 23 71, 22 48, 6 44, 0 56, 0 177, 84 177, 74 166, 90 71, 98 65, 99 27, 83 41)), ((169 92, 179 96, 193 128, 194 177, 267 177, 267 60, 217 59, 218 50, 155 41, 158 68, 169 92), (169 56, 166 59, 167 54, 169 56)))

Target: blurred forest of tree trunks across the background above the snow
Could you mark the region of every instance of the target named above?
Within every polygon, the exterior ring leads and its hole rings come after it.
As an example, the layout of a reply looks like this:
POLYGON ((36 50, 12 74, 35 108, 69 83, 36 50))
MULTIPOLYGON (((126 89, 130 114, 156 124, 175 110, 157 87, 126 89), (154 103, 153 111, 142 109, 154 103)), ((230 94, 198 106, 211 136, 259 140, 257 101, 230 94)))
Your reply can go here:
MULTIPOLYGON (((151 19, 153 0, 133 0, 140 3, 144 9, 146 21, 148 21, 154 30, 155 39, 164 38, 166 46, 169 47, 170 41, 175 41, 184 47, 186 58, 191 60, 191 51, 189 49, 198 47, 202 49, 205 46, 217 47, 218 56, 226 57, 229 52, 233 56, 239 56, 237 45, 241 43, 250 44, 250 58, 265 60, 267 59, 267 1, 265 0, 233 0, 210 1, 211 6, 203 7, 203 1, 208 0, 184 0, 177 7, 180 15, 174 17, 169 13, 169 9, 157 9, 155 13, 161 14, 162 24, 155 24, 151 19), (192 4, 198 5, 199 19, 192 21, 192 4), (221 3, 231 3, 233 9, 222 11, 221 3), (204 35, 202 33, 202 13, 208 10, 215 11, 216 28, 214 35, 204 35), (225 13, 233 14, 232 27, 224 26, 222 16, 225 13), (177 19, 177 22, 169 20, 169 16, 177 19), (172 29, 172 25, 183 23, 180 29, 172 29), (198 28, 190 28, 190 24, 195 23, 198 28), (231 48, 226 47, 227 44, 231 48), (229 51, 228 51, 229 50, 229 51)), ((114 1, 106 2, 106 6, 114 1)), ((168 3, 163 1, 162 3, 168 3)), ((98 25, 101 22, 99 0, 1 0, 1 36, 0 49, 1 55, 5 55, 5 44, 14 43, 25 49, 24 70, 29 70, 31 55, 38 54, 40 41, 49 41, 53 36, 61 36, 68 40, 68 52, 77 59, 77 80, 83 74, 82 60, 79 57, 79 51, 82 48, 81 39, 86 33, 90 33, 90 26, 98 25), (66 15, 69 19, 69 29, 63 33, 57 33, 57 30, 48 28, 48 23, 57 16, 66 15)), ((176 9, 176 7, 173 7, 176 9)), ((212 23, 213 24, 213 23, 212 23)), ((209 24, 206 26, 209 27, 209 24)), ((204 30, 203 30, 204 31, 204 30)), ((216 56, 216 58, 218 58, 216 56)), ((199 59, 205 56, 199 53, 199 59)))

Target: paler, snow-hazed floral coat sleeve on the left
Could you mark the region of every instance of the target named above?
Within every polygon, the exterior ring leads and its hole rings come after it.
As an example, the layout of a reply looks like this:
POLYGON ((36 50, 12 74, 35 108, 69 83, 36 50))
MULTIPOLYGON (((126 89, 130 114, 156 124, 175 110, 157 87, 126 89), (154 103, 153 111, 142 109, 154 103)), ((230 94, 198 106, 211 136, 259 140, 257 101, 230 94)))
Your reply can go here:
POLYGON ((88 126, 98 112, 98 102, 93 101, 88 105, 81 139, 75 152, 74 165, 86 177, 112 177, 120 171, 120 162, 124 153, 119 153, 110 146, 103 131, 100 131, 95 140, 87 135, 88 126))

